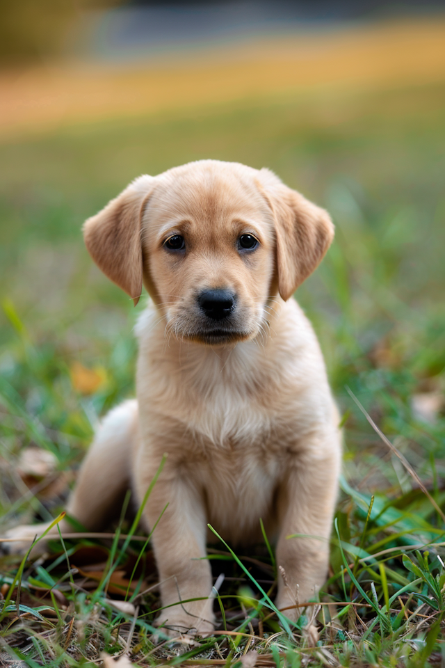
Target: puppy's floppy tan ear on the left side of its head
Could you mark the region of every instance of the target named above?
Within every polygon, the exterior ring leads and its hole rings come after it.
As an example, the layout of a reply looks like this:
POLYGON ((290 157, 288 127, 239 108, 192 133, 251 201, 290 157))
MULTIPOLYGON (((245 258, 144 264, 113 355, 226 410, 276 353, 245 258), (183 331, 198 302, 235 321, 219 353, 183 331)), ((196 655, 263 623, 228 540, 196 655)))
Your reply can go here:
POLYGON ((99 269, 139 301, 143 282, 140 224, 154 177, 140 176, 98 214, 83 223, 83 239, 99 269))

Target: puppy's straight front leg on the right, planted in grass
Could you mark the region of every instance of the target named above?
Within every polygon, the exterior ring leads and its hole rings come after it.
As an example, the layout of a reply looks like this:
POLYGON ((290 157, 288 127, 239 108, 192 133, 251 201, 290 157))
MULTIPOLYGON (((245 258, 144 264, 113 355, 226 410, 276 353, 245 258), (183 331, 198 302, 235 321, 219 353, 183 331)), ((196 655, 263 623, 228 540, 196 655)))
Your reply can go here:
MULTIPOLYGON (((293 455, 279 492, 278 608, 305 603, 326 580, 340 459, 337 431, 311 436, 304 450, 293 455), (287 538, 292 534, 314 537, 287 538)), ((301 612, 293 607, 284 614, 296 621, 301 612)))

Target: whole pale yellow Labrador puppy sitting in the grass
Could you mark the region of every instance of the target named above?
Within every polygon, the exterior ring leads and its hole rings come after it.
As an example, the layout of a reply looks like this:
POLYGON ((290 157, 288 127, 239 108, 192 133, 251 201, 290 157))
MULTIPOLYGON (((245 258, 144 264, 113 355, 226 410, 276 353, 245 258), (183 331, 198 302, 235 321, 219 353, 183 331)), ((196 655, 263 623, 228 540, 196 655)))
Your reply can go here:
MULTIPOLYGON (((152 305, 137 400, 105 417, 68 513, 100 529, 127 488, 143 500, 166 453, 144 510, 147 529, 164 511, 152 542, 172 607, 157 623, 212 632, 207 523, 236 546, 261 540, 260 518, 276 605, 295 620, 296 599, 325 580, 341 459, 321 350, 292 299, 332 241, 329 216, 267 169, 204 160, 139 177, 83 233, 106 276, 135 304, 145 285, 152 305)), ((18 527, 10 544, 40 529, 18 527)))

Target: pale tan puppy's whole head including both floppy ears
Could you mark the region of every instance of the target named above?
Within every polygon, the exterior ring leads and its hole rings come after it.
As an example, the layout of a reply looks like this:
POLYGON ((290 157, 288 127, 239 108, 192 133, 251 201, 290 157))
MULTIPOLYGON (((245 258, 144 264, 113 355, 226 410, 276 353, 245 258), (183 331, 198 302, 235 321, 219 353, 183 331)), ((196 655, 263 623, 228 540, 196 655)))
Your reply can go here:
POLYGON ((329 216, 269 170, 203 160, 133 181, 88 218, 93 260, 138 303, 143 284, 184 340, 250 339, 332 241, 329 216))

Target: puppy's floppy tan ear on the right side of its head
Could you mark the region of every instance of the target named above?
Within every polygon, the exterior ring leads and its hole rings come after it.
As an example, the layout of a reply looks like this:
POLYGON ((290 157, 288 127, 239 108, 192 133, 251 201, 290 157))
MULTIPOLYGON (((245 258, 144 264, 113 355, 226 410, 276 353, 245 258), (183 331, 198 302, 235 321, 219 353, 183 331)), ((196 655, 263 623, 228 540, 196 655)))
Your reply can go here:
POLYGON ((334 238, 325 209, 285 186, 268 170, 262 185, 275 218, 278 289, 286 301, 318 267, 334 238))

